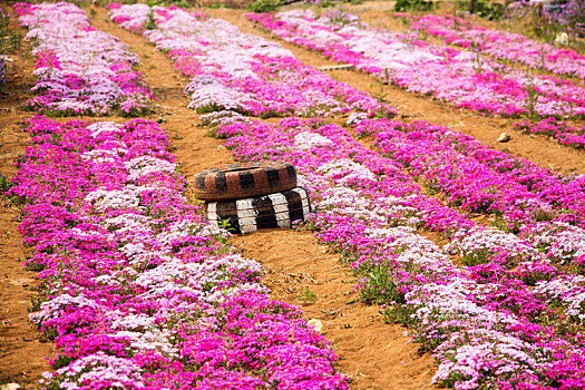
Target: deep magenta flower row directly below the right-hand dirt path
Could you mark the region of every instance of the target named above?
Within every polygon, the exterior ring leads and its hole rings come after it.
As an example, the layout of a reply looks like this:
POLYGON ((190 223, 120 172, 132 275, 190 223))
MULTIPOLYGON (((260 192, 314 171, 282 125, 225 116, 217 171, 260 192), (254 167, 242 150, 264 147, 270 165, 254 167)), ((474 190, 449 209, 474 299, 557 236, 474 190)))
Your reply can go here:
POLYGON ((363 120, 355 129, 373 135, 382 153, 464 211, 501 215, 517 226, 553 220, 585 227, 583 175, 543 169, 425 121, 363 120))

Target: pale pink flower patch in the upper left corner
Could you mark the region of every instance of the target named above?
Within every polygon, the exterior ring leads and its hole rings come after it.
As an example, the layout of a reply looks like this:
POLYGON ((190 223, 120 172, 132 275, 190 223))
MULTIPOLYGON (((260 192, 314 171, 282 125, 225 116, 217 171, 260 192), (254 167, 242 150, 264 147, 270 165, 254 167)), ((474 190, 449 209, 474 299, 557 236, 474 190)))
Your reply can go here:
POLYGON ((148 111, 153 96, 133 69, 138 57, 94 29, 81 9, 60 2, 17 3, 14 10, 37 57, 31 109, 55 116, 148 111))

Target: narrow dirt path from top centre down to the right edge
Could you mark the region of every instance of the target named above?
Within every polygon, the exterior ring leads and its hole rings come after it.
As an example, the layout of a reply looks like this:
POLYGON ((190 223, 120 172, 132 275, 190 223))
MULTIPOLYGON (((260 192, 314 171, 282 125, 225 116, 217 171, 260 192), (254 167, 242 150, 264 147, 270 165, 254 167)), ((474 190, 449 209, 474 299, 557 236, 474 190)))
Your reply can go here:
MULTIPOLYGON (((261 31, 254 23, 244 18, 243 11, 231 9, 206 10, 208 14, 228 20, 244 32, 255 33, 264 38, 279 40, 283 47, 306 65, 320 67, 335 65, 321 55, 302 49, 295 45, 282 41, 272 33, 261 31)), ((485 145, 491 145, 497 150, 510 152, 519 157, 549 169, 559 172, 576 169, 585 174, 585 152, 549 142, 544 137, 530 137, 511 130, 509 119, 485 117, 466 109, 456 108, 449 104, 433 100, 429 97, 407 92, 394 86, 382 85, 373 77, 352 70, 330 71, 339 81, 347 82, 357 89, 383 97, 399 111, 399 118, 410 120, 426 120, 435 125, 450 128, 475 137, 485 145), (507 131, 511 135, 508 143, 497 143, 499 134, 507 131)))

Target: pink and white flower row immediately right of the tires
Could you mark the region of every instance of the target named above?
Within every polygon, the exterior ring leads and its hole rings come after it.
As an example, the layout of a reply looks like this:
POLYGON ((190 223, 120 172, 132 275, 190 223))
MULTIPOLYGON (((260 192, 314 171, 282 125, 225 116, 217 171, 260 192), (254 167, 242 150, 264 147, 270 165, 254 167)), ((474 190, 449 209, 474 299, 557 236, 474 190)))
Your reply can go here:
POLYGON ((549 308, 555 298, 545 296, 562 289, 583 295, 585 279, 562 275, 514 235, 475 226, 421 196, 397 164, 339 126, 291 118, 277 126, 224 124, 218 135, 240 159, 267 156, 299 167, 302 184, 312 189, 318 236, 363 276, 362 299, 387 304, 388 321, 410 326, 415 340, 433 352, 436 382, 457 389, 585 384, 583 335, 547 325, 563 319, 549 308), (448 247, 482 261, 457 267, 415 234, 416 226, 472 233, 469 242, 456 238, 448 247))

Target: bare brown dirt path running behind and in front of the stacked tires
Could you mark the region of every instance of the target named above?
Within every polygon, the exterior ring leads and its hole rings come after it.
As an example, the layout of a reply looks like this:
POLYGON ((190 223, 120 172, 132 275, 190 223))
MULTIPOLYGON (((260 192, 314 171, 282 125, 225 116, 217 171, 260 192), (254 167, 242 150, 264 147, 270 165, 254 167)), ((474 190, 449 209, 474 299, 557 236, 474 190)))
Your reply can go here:
MULTIPOLYGON (((139 70, 160 99, 152 119, 166 119, 163 128, 187 178, 199 169, 233 162, 220 140, 206 137, 206 130, 196 126, 198 116, 187 108, 182 92, 186 80, 165 55, 143 37, 118 28, 101 8, 96 8, 91 22, 139 53, 139 70)), ((352 389, 430 388, 435 371, 430 354, 418 353, 419 347, 403 335, 404 328, 384 324, 377 306, 349 304, 357 299, 349 269, 310 233, 271 230, 235 236, 231 243, 262 264, 272 299, 302 305, 306 320, 323 322, 323 334, 335 348, 340 371, 352 379, 352 389)))

